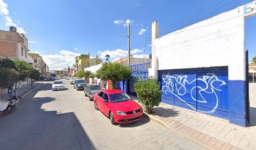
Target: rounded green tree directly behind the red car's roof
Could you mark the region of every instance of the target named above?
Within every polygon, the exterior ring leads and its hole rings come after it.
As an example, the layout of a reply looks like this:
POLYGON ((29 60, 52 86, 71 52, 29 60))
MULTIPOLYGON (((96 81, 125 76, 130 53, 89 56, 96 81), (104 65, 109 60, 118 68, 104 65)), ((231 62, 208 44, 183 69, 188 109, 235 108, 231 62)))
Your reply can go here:
POLYGON ((117 89, 117 81, 131 79, 132 71, 120 63, 104 63, 95 75, 98 79, 111 80, 113 89, 117 89))

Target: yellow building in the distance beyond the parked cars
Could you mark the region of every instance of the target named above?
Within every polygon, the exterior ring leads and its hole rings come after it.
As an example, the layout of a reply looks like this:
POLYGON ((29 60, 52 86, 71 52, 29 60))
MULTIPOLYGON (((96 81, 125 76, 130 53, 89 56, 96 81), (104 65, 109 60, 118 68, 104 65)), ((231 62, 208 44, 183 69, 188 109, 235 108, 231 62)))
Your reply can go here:
POLYGON ((102 60, 99 59, 98 56, 96 56, 96 58, 90 58, 90 53, 80 54, 80 56, 75 57, 76 73, 84 70, 85 68, 95 66, 100 63, 102 63, 102 60))

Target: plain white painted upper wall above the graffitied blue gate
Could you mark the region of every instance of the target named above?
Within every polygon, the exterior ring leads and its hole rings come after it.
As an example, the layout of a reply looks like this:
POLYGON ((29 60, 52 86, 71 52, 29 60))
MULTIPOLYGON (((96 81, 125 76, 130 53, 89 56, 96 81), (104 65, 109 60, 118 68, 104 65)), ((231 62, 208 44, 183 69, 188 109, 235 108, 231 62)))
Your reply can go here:
POLYGON ((244 28, 243 7, 224 12, 152 39, 152 62, 157 70, 228 66, 230 80, 245 80, 244 28))

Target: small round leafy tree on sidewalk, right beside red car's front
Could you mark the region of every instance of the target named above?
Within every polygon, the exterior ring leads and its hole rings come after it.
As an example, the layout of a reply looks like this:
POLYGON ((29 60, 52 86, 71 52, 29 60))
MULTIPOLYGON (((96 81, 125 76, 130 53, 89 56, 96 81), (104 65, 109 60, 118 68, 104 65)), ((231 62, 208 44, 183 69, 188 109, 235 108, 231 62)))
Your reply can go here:
POLYGON ((139 98, 139 103, 142 103, 147 113, 152 113, 152 108, 159 106, 162 91, 160 90, 160 83, 156 78, 139 79, 134 84, 134 89, 139 98))

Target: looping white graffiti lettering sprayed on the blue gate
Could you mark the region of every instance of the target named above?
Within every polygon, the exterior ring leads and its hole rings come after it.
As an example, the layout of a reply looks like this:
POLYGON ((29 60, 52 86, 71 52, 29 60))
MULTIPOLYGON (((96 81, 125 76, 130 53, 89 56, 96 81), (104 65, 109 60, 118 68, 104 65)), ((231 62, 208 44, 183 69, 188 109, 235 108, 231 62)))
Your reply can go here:
POLYGON ((225 81, 222 81, 218 79, 217 76, 211 75, 211 76, 203 76, 203 78, 197 78, 193 81, 188 81, 188 76, 172 76, 168 75, 166 78, 162 78, 163 83, 165 85, 162 87, 163 93, 168 94, 171 93, 176 98, 180 99, 184 103, 186 103, 190 108, 196 110, 194 106, 191 106, 191 104, 186 102, 186 99, 183 98, 183 96, 189 92, 190 90, 190 96, 193 101, 197 101, 198 103, 207 103, 208 101, 213 101, 213 99, 207 99, 206 95, 213 94, 216 104, 211 109, 211 111, 200 111, 202 113, 213 113, 215 112, 216 108, 218 108, 218 101, 219 98, 216 94, 216 91, 221 91, 220 87, 226 85, 225 81), (218 83, 218 84, 215 84, 218 83), (196 85, 196 86, 193 86, 196 85), (200 85, 200 86, 197 86, 200 85), (218 86, 216 86, 218 85, 218 86), (187 89, 187 86, 189 86, 189 89, 187 89), (192 86, 192 88, 191 88, 192 86), (174 92, 175 91, 175 92, 174 92), (198 98, 196 98, 195 94, 198 93, 198 98))

